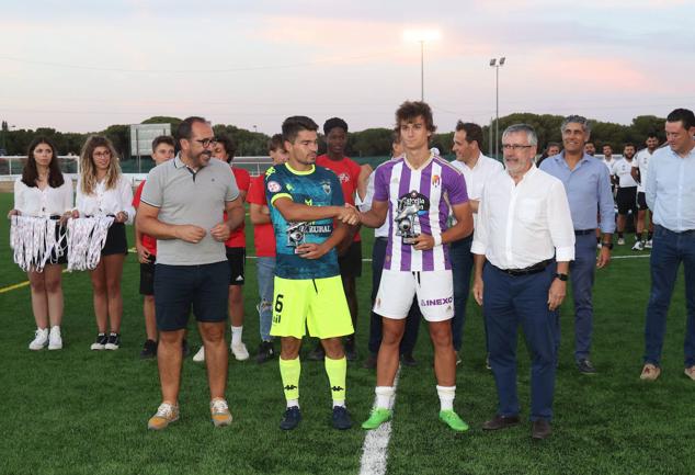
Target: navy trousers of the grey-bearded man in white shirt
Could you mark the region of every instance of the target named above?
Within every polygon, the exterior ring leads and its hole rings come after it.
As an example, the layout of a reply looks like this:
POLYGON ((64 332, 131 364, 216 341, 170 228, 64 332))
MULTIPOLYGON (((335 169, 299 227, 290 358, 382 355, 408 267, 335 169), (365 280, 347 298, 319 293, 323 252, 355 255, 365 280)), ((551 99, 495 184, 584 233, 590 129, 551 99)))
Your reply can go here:
POLYGON ((512 276, 487 263, 483 279, 483 314, 488 321, 490 365, 494 374, 501 416, 519 415, 516 394, 516 336, 524 329, 531 354, 531 420, 552 417, 557 312, 548 309, 548 290, 556 265, 512 276))

